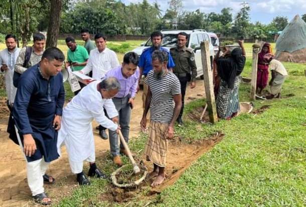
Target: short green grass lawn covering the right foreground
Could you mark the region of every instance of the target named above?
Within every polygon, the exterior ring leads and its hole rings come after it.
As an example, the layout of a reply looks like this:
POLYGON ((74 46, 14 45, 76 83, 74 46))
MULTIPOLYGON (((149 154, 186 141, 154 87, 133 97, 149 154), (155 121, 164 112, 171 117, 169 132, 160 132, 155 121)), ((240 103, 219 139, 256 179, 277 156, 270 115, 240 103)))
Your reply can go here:
MULTIPOLYGON (((251 53, 251 45, 245 44, 247 54, 251 53)), ((243 76, 250 76, 250 58, 248 55, 243 76)), ((253 102, 255 110, 269 105, 263 113, 206 125, 186 116, 203 106, 204 99, 186 106, 185 126, 176 127, 177 135, 195 140, 206 139, 215 132, 225 136, 161 194, 145 196, 149 190, 146 187, 127 203, 103 201, 111 188, 110 182, 92 179, 90 186, 76 188, 54 205, 144 206, 151 201, 149 206, 305 206, 306 64, 284 65, 289 76, 283 85, 283 98, 253 102)), ((250 85, 242 83, 240 101, 248 101, 249 92, 250 85)), ((132 139, 129 146, 133 152, 141 153, 145 140, 142 134, 132 139)), ((123 161, 128 163, 126 158, 123 161)), ((109 157, 98 159, 97 163, 107 173, 115 169, 109 157)))

